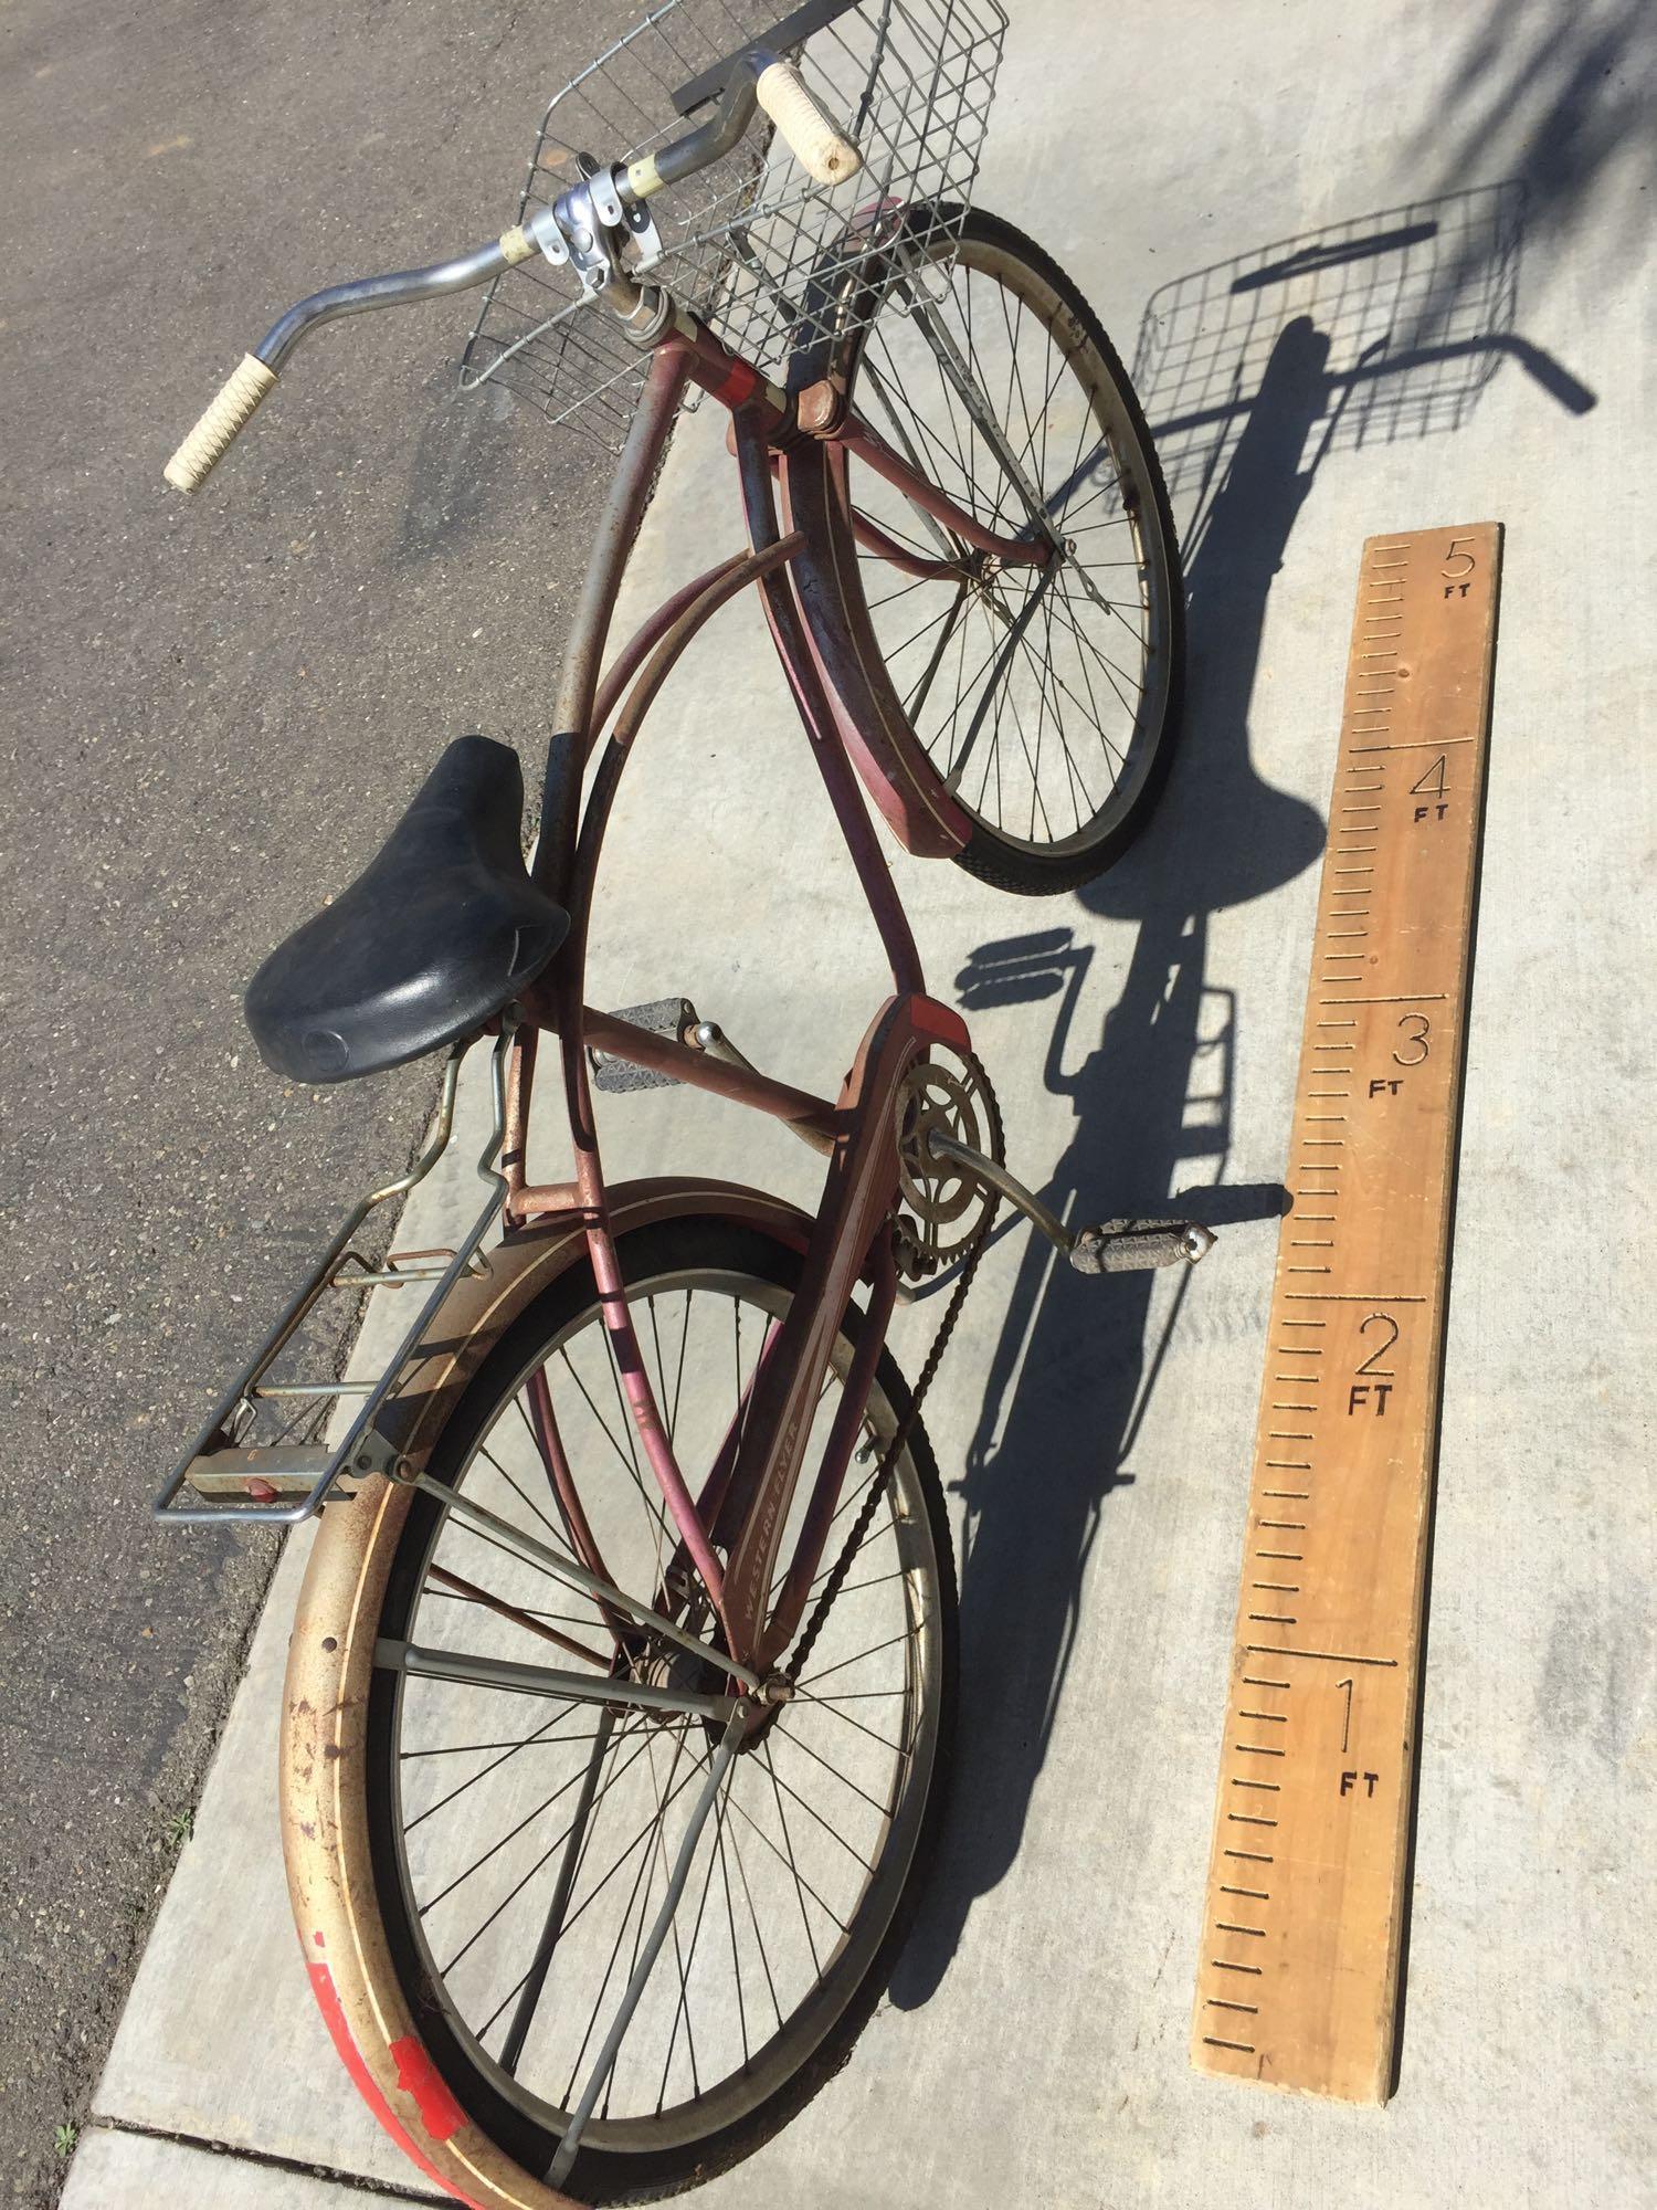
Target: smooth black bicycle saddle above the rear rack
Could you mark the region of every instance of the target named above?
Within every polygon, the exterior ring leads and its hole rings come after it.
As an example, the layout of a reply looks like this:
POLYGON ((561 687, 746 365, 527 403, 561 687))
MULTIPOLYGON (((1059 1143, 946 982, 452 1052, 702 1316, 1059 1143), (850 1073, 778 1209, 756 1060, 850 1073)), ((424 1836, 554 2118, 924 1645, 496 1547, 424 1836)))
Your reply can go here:
POLYGON ((378 857, 247 983, 265 1065, 342 1083, 435 1052, 510 1006, 570 928, 528 877, 521 824, 517 754, 455 738, 378 857))

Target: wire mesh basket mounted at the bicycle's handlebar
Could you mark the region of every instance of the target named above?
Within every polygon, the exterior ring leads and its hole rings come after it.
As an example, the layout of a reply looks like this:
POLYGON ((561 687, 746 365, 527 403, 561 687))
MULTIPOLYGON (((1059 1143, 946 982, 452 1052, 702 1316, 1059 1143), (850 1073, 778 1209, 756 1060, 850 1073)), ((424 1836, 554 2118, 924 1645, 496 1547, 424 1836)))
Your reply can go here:
MULTIPOLYGON (((815 183, 782 137, 756 126, 733 152, 650 201, 663 241, 650 281, 703 316, 736 351, 787 382, 789 358, 882 305, 877 265, 890 217, 948 263, 965 221, 1007 18, 996 0, 667 0, 552 102, 530 159, 519 221, 579 181, 577 157, 636 161, 711 113, 725 66, 751 44, 793 60, 822 108, 857 141, 864 168, 815 183), (846 301, 853 301, 848 312, 846 301), (826 309, 817 307, 817 314, 826 309)), ((539 254, 497 276, 462 360, 462 387, 506 385, 550 422, 579 422, 619 446, 647 354, 581 296, 574 272, 539 254)))

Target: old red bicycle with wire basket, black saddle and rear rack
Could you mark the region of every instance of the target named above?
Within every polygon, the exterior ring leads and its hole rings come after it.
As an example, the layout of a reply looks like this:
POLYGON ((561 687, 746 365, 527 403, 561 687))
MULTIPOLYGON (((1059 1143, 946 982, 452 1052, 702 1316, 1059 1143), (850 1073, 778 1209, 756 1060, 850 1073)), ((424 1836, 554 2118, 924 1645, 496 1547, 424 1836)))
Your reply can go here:
POLYGON ((1069 278, 970 208, 1003 33, 992 0, 769 27, 669 0, 552 102, 497 243, 300 301, 168 466, 199 488, 318 325, 473 285, 464 380, 621 442, 532 860, 517 756, 464 736, 247 990, 289 1078, 448 1063, 415 1167, 351 1211, 157 1503, 320 1514, 281 1744, 305 1962, 382 2124, 490 2210, 687 2186, 846 2060, 943 1808, 954 1560, 919 1406, 994 1207, 1085 1273, 1211 1240, 1072 1229, 1014 1180, 857 791, 908 853, 1067 891, 1144 822, 1180 718, 1175 533, 1122 365, 1069 278), (749 541, 605 667, 689 393, 729 413, 749 541), (835 1098, 685 999, 585 1003, 623 769, 745 592, 893 975, 835 1098), (555 1182, 526 1156, 543 1036, 555 1182), (471 1045, 482 1209, 453 1249, 384 1253, 380 1207, 448 1149, 471 1045), (824 1160, 815 1216, 608 1185, 594 1098, 638 1083, 775 1116, 824 1160), (378 1370, 307 1370, 329 1293, 371 1286, 418 1306, 378 1370), (921 1291, 943 1319, 908 1388, 886 1333, 921 1291))

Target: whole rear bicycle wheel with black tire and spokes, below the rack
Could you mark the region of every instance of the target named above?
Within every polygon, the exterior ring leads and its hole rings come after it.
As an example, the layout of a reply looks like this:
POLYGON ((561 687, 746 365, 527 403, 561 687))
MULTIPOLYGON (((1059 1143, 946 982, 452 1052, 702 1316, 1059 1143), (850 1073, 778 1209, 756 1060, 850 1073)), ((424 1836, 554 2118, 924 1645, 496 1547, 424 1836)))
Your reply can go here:
MULTIPOLYGON (((650 1379, 696 1487, 756 1359, 789 1308, 798 1257, 733 1222, 623 1238, 650 1379)), ((855 1330, 855 1315, 848 1326, 855 1330)), ((833 1419, 855 1335, 817 1403, 833 1419)), ((879 1441, 906 1410, 882 1357, 866 1448, 822 1560, 844 1547, 879 1441)), ((813 1456, 806 1456, 813 1465, 813 1456)), ((431 1472, 541 1545, 597 1545, 610 1582, 661 1607, 674 1527, 636 1445, 585 1264, 530 1304, 460 1397, 431 1472), (539 1403, 537 1403, 539 1399, 539 1403), (546 1408, 570 1494, 543 1445, 546 1408)), ((802 1483, 806 1487, 806 1483, 802 1483)), ((804 1498, 795 1498, 791 1527, 804 1498)), ((782 1560, 791 1554, 784 1529, 782 1560)), ((694 1618, 683 1613, 683 1618, 694 1618)), ((941 1803, 954 1702, 954 1567, 919 1423, 793 1702, 725 1766, 689 1870, 689 1821, 716 1777, 720 1726, 656 1708, 426 1677, 398 1653, 650 1682, 716 1682, 718 1660, 632 1646, 614 1609, 418 1494, 373 1624, 360 1830, 395 1976, 395 2009, 460 2111, 521 2170, 581 2201, 641 2201, 747 2155, 844 2062, 890 1969, 941 1803), (548 1646, 548 1631, 561 1646, 548 1646), (669 1934, 610 2071, 601 2051, 647 1956, 669 1881, 669 1934), (574 2161, 572 2113, 601 2069, 574 2161)), ((376 1951, 380 1945, 369 1943, 376 1951)))

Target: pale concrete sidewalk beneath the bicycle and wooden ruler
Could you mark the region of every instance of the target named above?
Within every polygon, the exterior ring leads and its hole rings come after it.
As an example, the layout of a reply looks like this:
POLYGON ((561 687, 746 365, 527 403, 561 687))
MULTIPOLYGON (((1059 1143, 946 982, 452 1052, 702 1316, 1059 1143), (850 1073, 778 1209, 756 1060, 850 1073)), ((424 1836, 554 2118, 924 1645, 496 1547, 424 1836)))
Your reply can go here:
MULTIPOLYGON (((1131 862, 1049 906, 901 864, 939 994, 972 1006, 988 946, 1027 977, 1025 1001, 974 1010, 974 1041, 1012 1162, 1052 1202, 1100 1218, 1281 1178, 1361 539, 1507 524, 1401 2088, 1352 2111, 1186 2064, 1275 1231, 1226 1231, 1178 1311, 1160 1277, 1052 1275, 1010 1238, 928 1403, 946 1483, 970 1474, 937 1892, 848 2069, 698 2199, 1657 2201, 1655 1556, 1633 1386, 1653 1286, 1635 1039, 1657 194, 1633 137, 1650 31, 1635 44, 1633 7, 1500 4, 1454 29, 1425 4, 1339 27, 1266 0, 1178 27, 1149 7, 1012 13, 979 197, 1078 276, 1125 354, 1138 334, 1193 603, 1186 749, 1131 862)), ((632 601, 738 528, 722 420, 700 415, 632 601), (674 519, 692 544, 669 566, 674 519)), ((879 988, 875 950, 762 625, 736 608, 647 732, 592 994, 683 990, 822 1087, 879 988)), ((811 1196, 809 1162, 780 1138, 756 1156, 747 1118, 656 1092, 614 1101, 608 1129, 616 1176, 811 1196)), ((468 1202, 453 1178, 422 1191, 402 1240, 440 1240, 468 1202)), ((930 1324, 906 1315, 906 1366, 930 1324)), ((287 1918, 276 1688, 300 1547, 66 2210, 426 2199, 327 2046, 287 1918)))

